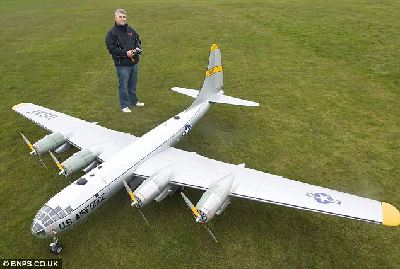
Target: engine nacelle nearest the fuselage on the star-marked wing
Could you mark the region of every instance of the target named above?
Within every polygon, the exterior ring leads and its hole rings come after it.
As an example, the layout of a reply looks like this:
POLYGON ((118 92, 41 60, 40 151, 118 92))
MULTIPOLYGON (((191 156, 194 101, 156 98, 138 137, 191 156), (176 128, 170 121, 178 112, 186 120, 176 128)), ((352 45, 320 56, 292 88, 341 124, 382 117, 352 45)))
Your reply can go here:
POLYGON ((165 174, 155 174, 139 185, 133 192, 138 200, 138 207, 143 207, 155 198, 158 198, 161 193, 167 188, 170 181, 170 176, 165 174))

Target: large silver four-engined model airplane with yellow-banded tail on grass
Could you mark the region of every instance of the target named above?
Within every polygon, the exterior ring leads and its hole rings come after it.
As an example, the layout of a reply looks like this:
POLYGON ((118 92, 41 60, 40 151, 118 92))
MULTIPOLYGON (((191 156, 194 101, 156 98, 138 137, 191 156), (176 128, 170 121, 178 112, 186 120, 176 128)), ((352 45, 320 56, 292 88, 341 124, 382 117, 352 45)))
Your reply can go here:
POLYGON ((62 245, 55 235, 87 218, 124 186, 132 206, 139 210, 152 200, 162 201, 182 187, 205 190, 196 206, 181 193, 195 221, 204 225, 220 215, 232 197, 387 226, 400 224, 399 211, 388 203, 173 148, 214 103, 258 106, 255 102, 224 95, 222 86, 221 52, 214 44, 201 90, 172 88, 195 98, 192 105, 142 137, 113 131, 34 104, 14 106, 13 110, 51 132, 33 145, 21 133, 31 154, 40 156, 50 152, 60 174, 65 176, 82 169, 86 172, 38 211, 32 224, 33 235, 54 237, 51 251, 60 253, 62 245), (51 151, 63 152, 71 145, 80 151, 59 163, 51 151))

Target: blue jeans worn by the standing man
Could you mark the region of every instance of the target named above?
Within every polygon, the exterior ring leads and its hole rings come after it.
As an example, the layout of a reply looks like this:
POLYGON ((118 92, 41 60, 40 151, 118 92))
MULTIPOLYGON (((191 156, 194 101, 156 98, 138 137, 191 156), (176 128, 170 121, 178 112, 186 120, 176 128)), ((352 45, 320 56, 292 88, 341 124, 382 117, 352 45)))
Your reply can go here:
POLYGON ((118 75, 119 103, 121 109, 136 105, 137 69, 138 65, 133 66, 115 66, 118 75))

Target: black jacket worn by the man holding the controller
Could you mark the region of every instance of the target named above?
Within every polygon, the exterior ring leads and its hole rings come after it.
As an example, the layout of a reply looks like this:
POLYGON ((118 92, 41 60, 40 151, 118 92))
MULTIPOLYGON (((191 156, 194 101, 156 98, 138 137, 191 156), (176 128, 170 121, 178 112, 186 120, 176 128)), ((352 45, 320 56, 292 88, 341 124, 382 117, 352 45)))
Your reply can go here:
POLYGON ((126 52, 135 48, 142 48, 138 33, 128 24, 115 24, 105 38, 108 52, 112 55, 115 65, 134 65, 139 62, 139 55, 134 55, 133 62, 126 52))

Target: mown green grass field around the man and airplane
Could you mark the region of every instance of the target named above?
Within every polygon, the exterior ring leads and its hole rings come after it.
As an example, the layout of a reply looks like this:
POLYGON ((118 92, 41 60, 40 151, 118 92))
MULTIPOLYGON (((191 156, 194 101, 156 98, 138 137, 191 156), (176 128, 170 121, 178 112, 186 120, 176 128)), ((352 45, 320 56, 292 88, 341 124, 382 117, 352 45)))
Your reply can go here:
MULTIPOLYGON (((0 258, 52 258, 31 235, 37 210, 69 184, 28 155, 19 136, 44 130, 11 110, 36 103, 143 135, 192 100, 208 50, 222 50, 228 95, 178 148, 400 207, 400 2, 395 0, 0 1, 0 258), (118 107, 104 36, 124 7, 139 32, 138 92, 118 107)), ((67 155, 62 158, 66 158, 67 155)), ((75 175, 73 179, 79 175, 75 175)), ((201 192, 188 191, 194 200, 201 192)), ((144 209, 121 191, 60 236, 64 268, 399 268, 400 230, 233 200, 211 228, 181 197, 144 209)))

